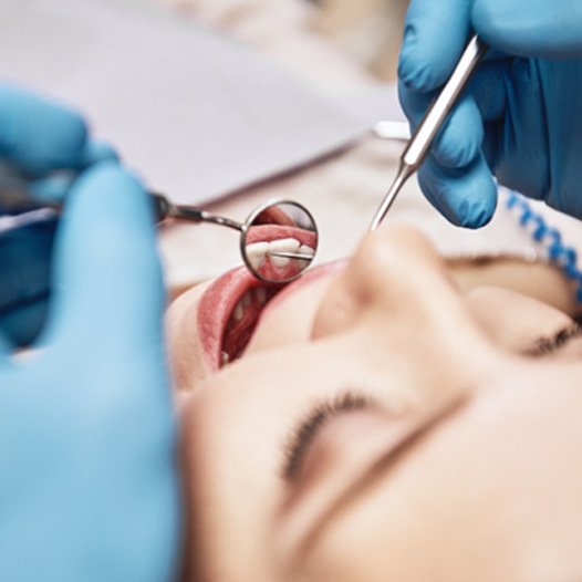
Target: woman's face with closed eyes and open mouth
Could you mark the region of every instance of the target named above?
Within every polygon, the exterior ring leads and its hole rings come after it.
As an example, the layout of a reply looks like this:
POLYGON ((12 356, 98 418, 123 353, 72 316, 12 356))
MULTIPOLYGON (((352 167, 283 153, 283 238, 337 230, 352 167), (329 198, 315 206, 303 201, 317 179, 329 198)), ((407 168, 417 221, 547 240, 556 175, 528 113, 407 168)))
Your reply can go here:
POLYGON ((243 350, 264 300, 235 308, 249 284, 231 273, 170 311, 188 578, 582 578, 569 318, 501 289, 461 294, 405 228, 285 288, 243 350))

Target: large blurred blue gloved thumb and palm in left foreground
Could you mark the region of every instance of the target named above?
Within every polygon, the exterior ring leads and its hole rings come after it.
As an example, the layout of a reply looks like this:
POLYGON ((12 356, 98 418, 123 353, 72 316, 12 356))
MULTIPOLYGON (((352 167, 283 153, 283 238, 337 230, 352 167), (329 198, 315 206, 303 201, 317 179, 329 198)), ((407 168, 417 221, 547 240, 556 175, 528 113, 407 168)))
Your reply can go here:
POLYGON ((179 499, 154 219, 115 164, 73 186, 23 361, 0 337, 0 580, 175 580, 179 499))

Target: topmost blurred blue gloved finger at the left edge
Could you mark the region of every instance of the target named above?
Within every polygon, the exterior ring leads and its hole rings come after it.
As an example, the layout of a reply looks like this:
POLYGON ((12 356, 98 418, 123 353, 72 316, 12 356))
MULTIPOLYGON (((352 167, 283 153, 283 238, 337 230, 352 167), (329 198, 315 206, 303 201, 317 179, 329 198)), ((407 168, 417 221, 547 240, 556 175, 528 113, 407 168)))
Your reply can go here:
POLYGON ((0 84, 0 156, 31 176, 84 163, 87 127, 76 112, 0 84))

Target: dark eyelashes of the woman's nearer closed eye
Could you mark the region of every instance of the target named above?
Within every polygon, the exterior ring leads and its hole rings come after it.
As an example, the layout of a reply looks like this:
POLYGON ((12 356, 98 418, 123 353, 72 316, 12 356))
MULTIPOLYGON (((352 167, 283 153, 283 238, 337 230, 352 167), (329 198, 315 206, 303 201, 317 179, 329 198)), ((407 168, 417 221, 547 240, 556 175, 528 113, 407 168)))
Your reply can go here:
POLYGON ((315 435, 331 418, 342 413, 368 408, 372 405, 372 398, 354 391, 346 391, 310 408, 283 445, 281 477, 287 481, 293 481, 297 478, 304 453, 315 435))

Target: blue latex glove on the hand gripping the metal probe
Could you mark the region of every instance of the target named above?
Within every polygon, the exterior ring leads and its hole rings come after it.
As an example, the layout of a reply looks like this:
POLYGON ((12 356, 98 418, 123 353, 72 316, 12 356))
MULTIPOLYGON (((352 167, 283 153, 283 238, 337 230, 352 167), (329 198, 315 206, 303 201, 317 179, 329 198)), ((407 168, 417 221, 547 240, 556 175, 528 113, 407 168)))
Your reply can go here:
POLYGON ((398 75, 413 126, 472 30, 492 51, 419 172, 424 194, 479 227, 497 202, 492 173, 582 218, 582 2, 412 0, 398 75))

